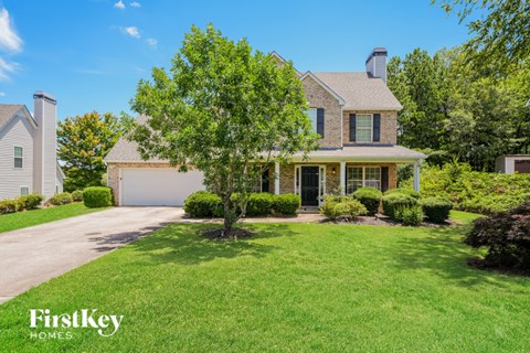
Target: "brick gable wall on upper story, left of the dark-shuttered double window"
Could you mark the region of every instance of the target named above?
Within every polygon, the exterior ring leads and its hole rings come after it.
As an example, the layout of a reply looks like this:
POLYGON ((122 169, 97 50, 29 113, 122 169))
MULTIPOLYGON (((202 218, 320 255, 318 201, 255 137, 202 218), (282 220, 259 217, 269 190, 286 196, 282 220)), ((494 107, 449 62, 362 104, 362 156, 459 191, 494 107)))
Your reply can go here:
POLYGON ((303 81, 303 84, 309 107, 325 109, 324 139, 319 140, 320 147, 342 147, 341 109, 339 101, 310 76, 307 76, 303 81))

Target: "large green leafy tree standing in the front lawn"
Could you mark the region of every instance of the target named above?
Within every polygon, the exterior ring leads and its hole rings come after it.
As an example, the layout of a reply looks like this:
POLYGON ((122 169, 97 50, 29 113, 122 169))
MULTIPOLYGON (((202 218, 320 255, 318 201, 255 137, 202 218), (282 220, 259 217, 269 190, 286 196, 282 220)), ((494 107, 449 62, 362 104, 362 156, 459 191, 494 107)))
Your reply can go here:
POLYGON ((201 170, 206 186, 221 196, 224 237, 245 213, 257 162, 286 162, 316 148, 293 64, 278 65, 212 25, 192 26, 169 73, 153 68, 152 82, 140 81, 131 106, 150 117, 130 133, 142 158, 201 170))

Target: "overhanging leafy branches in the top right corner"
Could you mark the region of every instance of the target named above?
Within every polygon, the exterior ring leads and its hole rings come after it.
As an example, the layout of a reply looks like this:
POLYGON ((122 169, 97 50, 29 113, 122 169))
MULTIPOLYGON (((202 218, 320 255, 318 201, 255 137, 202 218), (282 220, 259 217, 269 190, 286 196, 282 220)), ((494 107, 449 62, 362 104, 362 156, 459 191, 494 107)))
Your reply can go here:
POLYGON ((465 45, 476 67, 494 65, 504 71, 530 56, 530 2, 528 0, 432 0, 447 13, 456 12, 460 23, 475 11, 485 15, 467 26, 474 35, 465 45))

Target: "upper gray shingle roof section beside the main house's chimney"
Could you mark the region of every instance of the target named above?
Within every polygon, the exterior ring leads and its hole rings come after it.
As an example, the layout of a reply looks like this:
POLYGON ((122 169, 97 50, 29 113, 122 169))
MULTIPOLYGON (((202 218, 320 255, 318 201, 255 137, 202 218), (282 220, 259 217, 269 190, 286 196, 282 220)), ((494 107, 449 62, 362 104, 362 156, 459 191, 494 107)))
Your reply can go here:
POLYGON ((314 73, 344 100, 347 110, 401 110, 403 107, 381 78, 364 72, 314 73))

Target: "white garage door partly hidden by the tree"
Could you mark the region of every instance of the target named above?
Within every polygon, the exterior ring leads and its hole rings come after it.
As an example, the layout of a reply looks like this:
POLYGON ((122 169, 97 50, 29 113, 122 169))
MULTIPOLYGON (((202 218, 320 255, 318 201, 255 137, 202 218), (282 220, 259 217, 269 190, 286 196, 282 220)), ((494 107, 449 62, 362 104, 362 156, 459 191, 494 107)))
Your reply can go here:
POLYGON ((204 190, 199 171, 179 173, 176 169, 124 169, 121 204, 124 206, 182 206, 186 197, 204 190))

